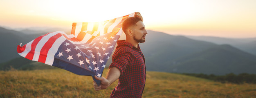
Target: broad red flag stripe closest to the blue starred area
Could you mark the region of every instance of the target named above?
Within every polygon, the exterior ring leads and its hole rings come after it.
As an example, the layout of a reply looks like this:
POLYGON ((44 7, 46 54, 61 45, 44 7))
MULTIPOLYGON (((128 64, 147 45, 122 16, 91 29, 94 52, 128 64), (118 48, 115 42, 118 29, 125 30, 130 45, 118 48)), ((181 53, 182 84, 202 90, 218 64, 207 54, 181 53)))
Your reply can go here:
POLYGON ((47 42, 45 42, 45 45, 42 47, 41 51, 40 51, 40 55, 38 58, 38 62, 43 62, 45 63, 45 60, 47 58, 47 53, 49 51, 49 49, 52 47, 52 45, 54 44, 54 42, 60 38, 62 35, 61 33, 58 33, 54 36, 52 36, 51 38, 49 38, 49 40, 47 40, 47 42))

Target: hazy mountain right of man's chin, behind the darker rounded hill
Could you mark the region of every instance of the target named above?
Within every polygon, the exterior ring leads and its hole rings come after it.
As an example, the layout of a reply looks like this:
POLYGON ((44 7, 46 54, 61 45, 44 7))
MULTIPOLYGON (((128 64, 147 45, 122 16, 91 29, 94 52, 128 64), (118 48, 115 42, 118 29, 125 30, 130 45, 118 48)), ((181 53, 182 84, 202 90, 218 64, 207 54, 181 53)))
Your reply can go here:
POLYGON ((166 33, 150 31, 146 36, 146 42, 140 47, 146 58, 147 70, 166 71, 169 65, 166 62, 175 63, 176 58, 203 51, 216 46, 211 42, 191 40, 184 36, 171 36, 166 33))

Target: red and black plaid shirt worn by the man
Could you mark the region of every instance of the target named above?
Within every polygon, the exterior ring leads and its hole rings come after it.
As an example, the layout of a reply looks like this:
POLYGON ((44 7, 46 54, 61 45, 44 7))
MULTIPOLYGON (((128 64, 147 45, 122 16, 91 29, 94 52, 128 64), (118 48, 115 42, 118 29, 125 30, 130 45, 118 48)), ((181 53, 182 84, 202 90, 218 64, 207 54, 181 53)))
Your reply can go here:
POLYGON ((117 45, 110 67, 117 67, 121 76, 110 98, 141 98, 146 82, 143 53, 125 40, 118 40, 117 45))

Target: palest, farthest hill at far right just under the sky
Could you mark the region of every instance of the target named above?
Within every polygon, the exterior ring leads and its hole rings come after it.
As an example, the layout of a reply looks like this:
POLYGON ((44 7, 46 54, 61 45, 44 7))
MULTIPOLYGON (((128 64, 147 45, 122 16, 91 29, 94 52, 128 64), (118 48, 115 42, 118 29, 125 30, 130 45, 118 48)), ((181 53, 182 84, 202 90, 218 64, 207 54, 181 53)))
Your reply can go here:
POLYGON ((193 40, 213 42, 218 45, 229 44, 238 49, 256 55, 256 38, 220 38, 212 36, 186 36, 193 40))

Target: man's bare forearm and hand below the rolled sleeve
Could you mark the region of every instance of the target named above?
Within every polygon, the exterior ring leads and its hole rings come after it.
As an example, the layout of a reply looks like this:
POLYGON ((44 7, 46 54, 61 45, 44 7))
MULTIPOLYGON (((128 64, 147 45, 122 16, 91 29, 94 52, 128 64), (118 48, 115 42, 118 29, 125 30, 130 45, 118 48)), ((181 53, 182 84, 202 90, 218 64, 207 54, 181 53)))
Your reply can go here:
POLYGON ((97 80, 101 81, 101 85, 98 86, 96 82, 93 83, 94 90, 99 91, 100 89, 108 88, 113 82, 115 82, 121 75, 120 70, 117 67, 111 67, 108 70, 106 78, 94 76, 97 80))

